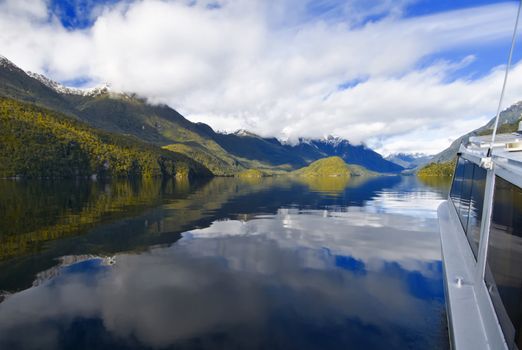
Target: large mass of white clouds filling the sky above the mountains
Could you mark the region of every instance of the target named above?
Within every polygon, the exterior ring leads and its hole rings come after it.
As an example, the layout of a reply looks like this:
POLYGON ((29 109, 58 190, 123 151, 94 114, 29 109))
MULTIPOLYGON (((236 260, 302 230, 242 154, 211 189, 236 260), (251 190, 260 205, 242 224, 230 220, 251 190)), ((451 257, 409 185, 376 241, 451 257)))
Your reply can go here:
MULTIPOLYGON (((404 17, 408 1, 124 1, 66 29, 46 1, 30 3, 0 5, 2 54, 24 69, 108 81, 218 130, 335 134, 383 153, 434 153, 491 117, 501 67, 471 79, 456 72, 472 56, 420 63, 509 41, 515 9, 404 17)), ((508 92, 506 105, 521 99, 520 64, 508 92)))

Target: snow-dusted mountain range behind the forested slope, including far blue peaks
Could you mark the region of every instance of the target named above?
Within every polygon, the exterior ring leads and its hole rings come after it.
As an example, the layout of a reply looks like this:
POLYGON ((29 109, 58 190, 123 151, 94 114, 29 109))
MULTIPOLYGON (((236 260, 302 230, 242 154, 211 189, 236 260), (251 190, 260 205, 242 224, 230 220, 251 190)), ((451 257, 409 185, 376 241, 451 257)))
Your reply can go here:
MULTIPOLYGON (((168 152, 179 155, 176 159, 191 159, 214 175, 233 175, 252 168, 290 171, 329 156, 339 156, 349 164, 374 172, 400 173, 404 170, 403 166, 364 145, 353 145, 332 136, 300 139, 296 144, 288 144, 248 131, 218 133, 206 124, 187 120, 167 105, 150 104, 136 94, 115 92, 110 86, 88 90, 64 87, 41 74, 25 72, 2 56, 0 96, 8 99, 7 105, 22 104, 17 109, 23 110, 27 108, 24 104, 29 104, 50 111, 62 124, 70 118, 81 124, 76 127, 90 128, 84 131, 96 137, 101 137, 99 132, 117 135, 118 145, 124 141, 133 145, 141 143, 151 150, 154 148, 151 154, 158 157, 160 154, 165 157, 164 152, 168 152)), ((103 158, 100 154, 91 150, 88 156, 99 161, 103 158)), ((134 168, 141 166, 133 165, 134 168)), ((192 165, 186 168, 196 169, 192 165)))

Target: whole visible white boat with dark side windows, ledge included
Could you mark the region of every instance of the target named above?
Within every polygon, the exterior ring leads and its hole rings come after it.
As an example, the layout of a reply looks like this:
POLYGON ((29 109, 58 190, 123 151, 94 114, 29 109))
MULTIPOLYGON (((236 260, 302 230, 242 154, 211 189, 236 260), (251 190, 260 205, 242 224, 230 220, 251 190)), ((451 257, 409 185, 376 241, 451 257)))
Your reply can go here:
POLYGON ((488 157, 490 140, 460 146, 449 198, 438 208, 450 340, 459 350, 518 349, 522 340, 522 135, 498 135, 488 157))

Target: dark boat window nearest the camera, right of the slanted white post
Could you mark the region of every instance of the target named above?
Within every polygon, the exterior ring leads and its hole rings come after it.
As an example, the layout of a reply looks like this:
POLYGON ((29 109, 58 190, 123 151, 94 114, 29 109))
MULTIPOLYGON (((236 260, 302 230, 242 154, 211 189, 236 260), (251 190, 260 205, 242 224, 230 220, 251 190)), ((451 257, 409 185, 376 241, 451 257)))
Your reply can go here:
POLYGON ((496 177, 486 284, 510 349, 522 349, 522 190, 496 177))

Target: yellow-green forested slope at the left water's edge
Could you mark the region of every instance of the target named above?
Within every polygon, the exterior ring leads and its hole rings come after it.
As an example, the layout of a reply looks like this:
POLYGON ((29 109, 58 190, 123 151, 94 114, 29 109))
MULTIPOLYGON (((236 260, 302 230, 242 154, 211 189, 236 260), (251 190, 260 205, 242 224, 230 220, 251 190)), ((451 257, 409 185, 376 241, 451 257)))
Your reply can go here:
POLYGON ((0 177, 203 176, 184 155, 0 97, 0 177))

